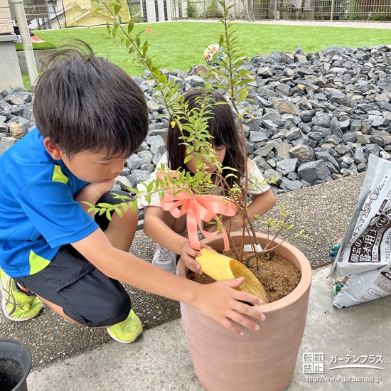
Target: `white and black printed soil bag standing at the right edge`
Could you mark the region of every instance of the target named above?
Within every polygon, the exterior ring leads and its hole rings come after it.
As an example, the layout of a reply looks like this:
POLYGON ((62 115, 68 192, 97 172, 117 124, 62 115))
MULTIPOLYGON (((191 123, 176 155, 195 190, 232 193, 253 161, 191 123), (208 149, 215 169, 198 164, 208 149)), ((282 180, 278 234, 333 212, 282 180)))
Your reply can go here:
POLYGON ((363 188, 328 277, 333 305, 391 294, 391 162, 371 154, 363 188))

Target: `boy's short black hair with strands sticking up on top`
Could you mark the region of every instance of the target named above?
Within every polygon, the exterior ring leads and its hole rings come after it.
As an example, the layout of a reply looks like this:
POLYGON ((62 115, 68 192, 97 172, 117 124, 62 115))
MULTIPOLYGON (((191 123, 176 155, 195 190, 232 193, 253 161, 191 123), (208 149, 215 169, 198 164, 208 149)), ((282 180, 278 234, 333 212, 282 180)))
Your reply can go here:
POLYGON ((124 70, 75 41, 50 58, 38 80, 38 130, 68 157, 86 150, 130 156, 148 132, 144 94, 124 70))

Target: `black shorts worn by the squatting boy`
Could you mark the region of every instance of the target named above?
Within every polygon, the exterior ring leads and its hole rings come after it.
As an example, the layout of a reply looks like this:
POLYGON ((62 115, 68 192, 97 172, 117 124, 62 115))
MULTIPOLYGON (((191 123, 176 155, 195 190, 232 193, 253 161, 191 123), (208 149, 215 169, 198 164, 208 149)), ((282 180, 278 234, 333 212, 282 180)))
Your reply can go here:
MULTIPOLYGON (((129 196, 123 191, 115 193, 129 196)), ((113 199, 107 193, 98 202, 114 204, 122 200, 113 199)), ((109 226, 105 213, 96 216, 95 221, 102 230, 109 226)), ((66 315, 85 326, 112 326, 124 321, 131 309, 129 294, 122 284, 100 272, 71 245, 60 247, 41 272, 15 280, 62 307, 66 315)))

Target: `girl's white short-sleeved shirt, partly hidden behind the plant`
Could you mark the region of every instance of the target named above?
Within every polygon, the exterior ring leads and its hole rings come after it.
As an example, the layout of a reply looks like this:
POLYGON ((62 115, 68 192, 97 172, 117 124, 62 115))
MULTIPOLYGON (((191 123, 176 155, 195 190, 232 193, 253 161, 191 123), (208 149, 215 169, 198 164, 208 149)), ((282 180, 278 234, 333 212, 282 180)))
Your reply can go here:
MULTIPOLYGON (((151 173, 151 178, 149 181, 144 183, 139 183, 137 185, 137 189, 139 191, 146 191, 146 186, 149 185, 152 181, 156 180, 156 174, 161 167, 161 164, 164 164, 164 167, 168 167, 168 154, 167 152, 161 156, 159 163, 156 165, 156 170, 151 173)), ((264 177, 262 176, 261 171, 254 163, 254 161, 247 159, 247 171, 248 171, 248 189, 247 193, 252 195, 259 195, 265 193, 269 190, 270 186, 264 182, 264 177)), ((242 178, 240 181, 240 186, 245 186, 245 178, 242 178)), ((222 191, 220 190, 220 194, 222 191)), ((145 197, 140 197, 138 200, 139 209, 147 207, 147 206, 158 206, 161 208, 159 192, 151 194, 151 202, 148 203, 145 197)))

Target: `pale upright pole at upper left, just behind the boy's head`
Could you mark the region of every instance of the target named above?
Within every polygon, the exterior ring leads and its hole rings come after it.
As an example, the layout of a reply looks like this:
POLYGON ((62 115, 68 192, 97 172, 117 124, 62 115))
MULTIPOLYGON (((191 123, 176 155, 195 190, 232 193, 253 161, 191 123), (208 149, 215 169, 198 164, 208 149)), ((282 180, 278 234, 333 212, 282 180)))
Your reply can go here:
POLYGON ((10 0, 14 4, 16 21, 21 33, 24 57, 26 58, 26 65, 28 77, 30 77, 31 91, 34 91, 38 79, 38 70, 36 65, 36 58, 34 57, 33 45, 31 44, 30 31, 28 31, 26 13, 24 12, 23 0, 10 0))

